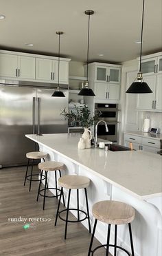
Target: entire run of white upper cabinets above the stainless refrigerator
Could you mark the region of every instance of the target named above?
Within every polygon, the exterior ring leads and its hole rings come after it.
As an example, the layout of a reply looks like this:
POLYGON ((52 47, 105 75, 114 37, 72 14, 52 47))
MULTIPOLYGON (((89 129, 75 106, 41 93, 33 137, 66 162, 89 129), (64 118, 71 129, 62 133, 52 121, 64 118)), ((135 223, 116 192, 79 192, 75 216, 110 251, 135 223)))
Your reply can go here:
MULTIPOLYGON (((60 83, 69 83, 69 58, 60 58, 60 83)), ((0 51, 0 78, 58 83, 58 57, 0 51)))

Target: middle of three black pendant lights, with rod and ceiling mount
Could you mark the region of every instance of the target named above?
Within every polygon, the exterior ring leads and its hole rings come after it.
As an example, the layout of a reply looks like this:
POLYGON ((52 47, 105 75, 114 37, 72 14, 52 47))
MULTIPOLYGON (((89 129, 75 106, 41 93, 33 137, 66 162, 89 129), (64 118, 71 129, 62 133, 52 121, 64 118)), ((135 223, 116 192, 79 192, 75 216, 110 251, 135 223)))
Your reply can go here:
MULTIPOLYGON (((89 27, 90 27, 90 15, 94 14, 93 10, 86 10, 84 14, 89 15, 89 27)), ((80 90, 78 95, 80 96, 95 96, 92 89, 89 88, 89 29, 88 29, 88 47, 87 47, 87 59, 86 59, 86 81, 84 88, 80 90)))

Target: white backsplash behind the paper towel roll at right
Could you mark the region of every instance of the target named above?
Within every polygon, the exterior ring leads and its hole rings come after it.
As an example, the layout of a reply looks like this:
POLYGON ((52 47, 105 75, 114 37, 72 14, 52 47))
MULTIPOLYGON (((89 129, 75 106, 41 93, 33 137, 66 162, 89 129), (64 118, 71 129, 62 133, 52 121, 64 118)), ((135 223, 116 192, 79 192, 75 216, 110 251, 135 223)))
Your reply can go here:
MULTIPOLYGON (((146 117, 150 118, 150 127, 153 128, 159 128, 160 133, 162 134, 162 113, 159 112, 143 112, 143 120, 146 117)), ((143 123, 143 120, 141 120, 141 124, 143 123)))

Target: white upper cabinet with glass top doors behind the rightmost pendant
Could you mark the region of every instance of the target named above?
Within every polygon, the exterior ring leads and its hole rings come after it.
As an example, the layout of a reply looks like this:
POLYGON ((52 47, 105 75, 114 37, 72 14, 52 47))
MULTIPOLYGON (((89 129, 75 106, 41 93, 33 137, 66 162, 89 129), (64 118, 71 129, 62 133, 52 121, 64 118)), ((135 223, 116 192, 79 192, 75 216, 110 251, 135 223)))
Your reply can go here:
POLYGON ((141 72, 153 93, 138 94, 137 109, 162 111, 162 53, 143 57, 141 72))

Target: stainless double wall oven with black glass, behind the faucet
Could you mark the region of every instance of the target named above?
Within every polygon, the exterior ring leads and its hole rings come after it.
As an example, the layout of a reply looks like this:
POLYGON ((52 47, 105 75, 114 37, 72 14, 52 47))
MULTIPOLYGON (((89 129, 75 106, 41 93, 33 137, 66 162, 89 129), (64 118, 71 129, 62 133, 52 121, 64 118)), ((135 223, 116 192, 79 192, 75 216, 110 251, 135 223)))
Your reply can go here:
POLYGON ((108 132, 106 132, 104 123, 99 123, 97 127, 97 137, 117 142, 118 105, 95 103, 95 113, 97 111, 100 111, 99 120, 104 120, 108 125, 108 132))

